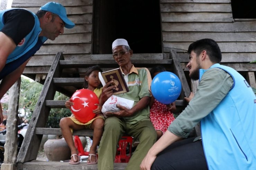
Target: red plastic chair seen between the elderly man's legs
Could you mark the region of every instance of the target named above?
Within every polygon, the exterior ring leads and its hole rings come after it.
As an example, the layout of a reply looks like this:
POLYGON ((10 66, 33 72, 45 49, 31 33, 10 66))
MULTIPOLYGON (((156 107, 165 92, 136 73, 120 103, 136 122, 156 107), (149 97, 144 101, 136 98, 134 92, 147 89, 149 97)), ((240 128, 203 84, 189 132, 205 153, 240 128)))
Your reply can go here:
POLYGON ((132 147, 132 137, 131 136, 123 136, 121 140, 118 142, 119 148, 117 148, 117 155, 115 158, 116 163, 120 162, 129 162, 131 158, 131 147, 132 147), (129 155, 126 154, 126 148, 129 144, 129 155), (120 152, 120 153, 119 153, 120 152))

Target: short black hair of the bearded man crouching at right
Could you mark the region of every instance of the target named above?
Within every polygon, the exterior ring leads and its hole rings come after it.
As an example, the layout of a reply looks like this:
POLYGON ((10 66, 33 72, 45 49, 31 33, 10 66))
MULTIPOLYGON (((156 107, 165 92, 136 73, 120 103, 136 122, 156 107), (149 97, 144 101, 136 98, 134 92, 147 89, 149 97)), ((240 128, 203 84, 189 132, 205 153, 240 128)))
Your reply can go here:
POLYGON ((199 56, 203 50, 207 52, 211 62, 220 63, 222 58, 220 47, 216 41, 209 38, 201 39, 191 43, 188 49, 188 53, 190 54, 191 51, 194 51, 196 56, 199 56))

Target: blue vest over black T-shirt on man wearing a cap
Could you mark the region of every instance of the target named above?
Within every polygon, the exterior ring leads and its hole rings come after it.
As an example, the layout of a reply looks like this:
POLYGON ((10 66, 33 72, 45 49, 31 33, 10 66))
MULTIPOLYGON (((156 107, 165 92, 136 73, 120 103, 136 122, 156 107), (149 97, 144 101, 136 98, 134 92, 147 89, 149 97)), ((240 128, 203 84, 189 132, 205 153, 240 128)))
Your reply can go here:
MULTIPOLYGON (((6 11, 15 10, 8 9, 0 11, 0 30, 4 26, 3 14, 6 11)), ((13 50, 13 52, 8 56, 6 61, 6 66, 0 72, 0 80, 7 76, 9 73, 17 69, 22 63, 27 61, 31 56, 33 56, 37 50, 40 49, 42 44, 47 40, 46 37, 38 37, 39 33, 42 31, 40 28, 40 22, 36 14, 33 14, 35 18, 35 25, 29 34, 22 39, 18 46, 13 50)))

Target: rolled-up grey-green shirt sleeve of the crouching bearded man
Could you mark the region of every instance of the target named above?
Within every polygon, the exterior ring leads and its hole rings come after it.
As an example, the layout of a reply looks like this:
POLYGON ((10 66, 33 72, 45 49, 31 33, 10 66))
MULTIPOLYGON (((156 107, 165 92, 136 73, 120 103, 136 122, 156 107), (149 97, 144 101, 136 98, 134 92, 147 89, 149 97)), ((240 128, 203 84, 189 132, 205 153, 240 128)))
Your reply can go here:
POLYGON ((194 98, 170 124, 168 131, 186 138, 194 126, 207 116, 227 95, 233 79, 226 71, 212 68, 203 74, 194 98))

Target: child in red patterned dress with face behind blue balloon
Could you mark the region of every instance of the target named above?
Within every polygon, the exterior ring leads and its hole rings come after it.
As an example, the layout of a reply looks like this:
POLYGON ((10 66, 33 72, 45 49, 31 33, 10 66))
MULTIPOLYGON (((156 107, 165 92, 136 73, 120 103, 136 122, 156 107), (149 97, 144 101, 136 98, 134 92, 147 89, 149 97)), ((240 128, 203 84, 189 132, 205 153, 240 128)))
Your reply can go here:
MULTIPOLYGON (((162 66, 155 66, 150 70, 152 79, 156 74, 166 71, 162 66)), ((151 91, 150 91, 151 93, 151 91)), ((150 121, 152 122, 159 139, 167 130, 170 124, 174 121, 173 111, 176 110, 175 102, 165 105, 157 101, 153 96, 149 103, 150 107, 150 121)))

